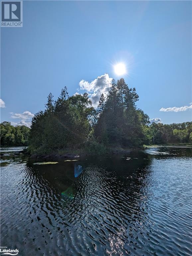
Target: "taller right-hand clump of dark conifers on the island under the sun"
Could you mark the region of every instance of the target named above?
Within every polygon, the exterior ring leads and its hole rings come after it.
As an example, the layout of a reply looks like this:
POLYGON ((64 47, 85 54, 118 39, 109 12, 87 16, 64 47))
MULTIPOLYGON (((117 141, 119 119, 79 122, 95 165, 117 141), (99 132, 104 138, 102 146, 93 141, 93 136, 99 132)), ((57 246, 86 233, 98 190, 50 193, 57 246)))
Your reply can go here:
POLYGON ((115 82, 107 95, 101 95, 98 117, 95 125, 95 137, 107 146, 133 147, 144 142, 144 127, 148 116, 136 108, 139 96, 135 88, 131 89, 124 79, 115 82))

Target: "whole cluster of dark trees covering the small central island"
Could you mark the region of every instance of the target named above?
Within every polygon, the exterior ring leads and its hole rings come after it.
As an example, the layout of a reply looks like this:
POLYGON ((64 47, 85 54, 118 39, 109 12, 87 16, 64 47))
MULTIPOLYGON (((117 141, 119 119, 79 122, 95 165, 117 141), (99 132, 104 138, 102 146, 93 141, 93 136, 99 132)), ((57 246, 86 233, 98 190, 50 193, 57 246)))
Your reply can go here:
POLYGON ((149 118, 137 109, 138 99, 136 89, 129 88, 123 78, 112 81, 107 95, 101 94, 97 109, 87 93, 69 97, 64 87, 56 101, 50 93, 45 111, 33 117, 30 150, 141 146, 149 118))

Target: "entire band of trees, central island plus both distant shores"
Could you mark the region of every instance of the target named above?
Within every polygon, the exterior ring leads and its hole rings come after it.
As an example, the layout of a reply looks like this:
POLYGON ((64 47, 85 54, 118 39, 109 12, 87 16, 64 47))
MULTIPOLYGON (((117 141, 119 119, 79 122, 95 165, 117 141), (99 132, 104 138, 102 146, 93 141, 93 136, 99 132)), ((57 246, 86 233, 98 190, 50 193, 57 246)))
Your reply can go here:
POLYGON ((139 96, 124 79, 112 81, 95 109, 87 93, 68 95, 61 90, 57 100, 48 95, 44 111, 36 113, 31 129, 1 123, 1 145, 28 145, 31 153, 82 150, 104 153, 110 148, 141 147, 143 144, 192 143, 192 122, 162 124, 136 107, 139 96))

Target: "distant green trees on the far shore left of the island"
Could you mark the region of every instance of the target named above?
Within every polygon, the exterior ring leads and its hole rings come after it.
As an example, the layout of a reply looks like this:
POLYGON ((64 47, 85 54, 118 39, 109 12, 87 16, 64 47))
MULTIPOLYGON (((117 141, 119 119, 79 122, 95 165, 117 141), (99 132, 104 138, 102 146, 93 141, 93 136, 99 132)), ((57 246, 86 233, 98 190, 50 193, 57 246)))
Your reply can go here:
POLYGON ((29 144, 30 128, 25 125, 14 127, 10 122, 2 122, 1 146, 26 146, 29 144))

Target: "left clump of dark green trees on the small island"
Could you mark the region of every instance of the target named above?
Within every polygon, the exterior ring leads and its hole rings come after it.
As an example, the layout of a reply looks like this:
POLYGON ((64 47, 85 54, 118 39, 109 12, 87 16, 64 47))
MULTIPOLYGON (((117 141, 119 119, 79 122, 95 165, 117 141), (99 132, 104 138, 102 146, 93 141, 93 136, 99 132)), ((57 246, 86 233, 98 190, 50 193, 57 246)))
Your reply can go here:
POLYGON ((55 102, 49 94, 46 110, 32 119, 29 151, 50 153, 81 148, 92 129, 93 113, 87 93, 68 97, 65 87, 55 102))

